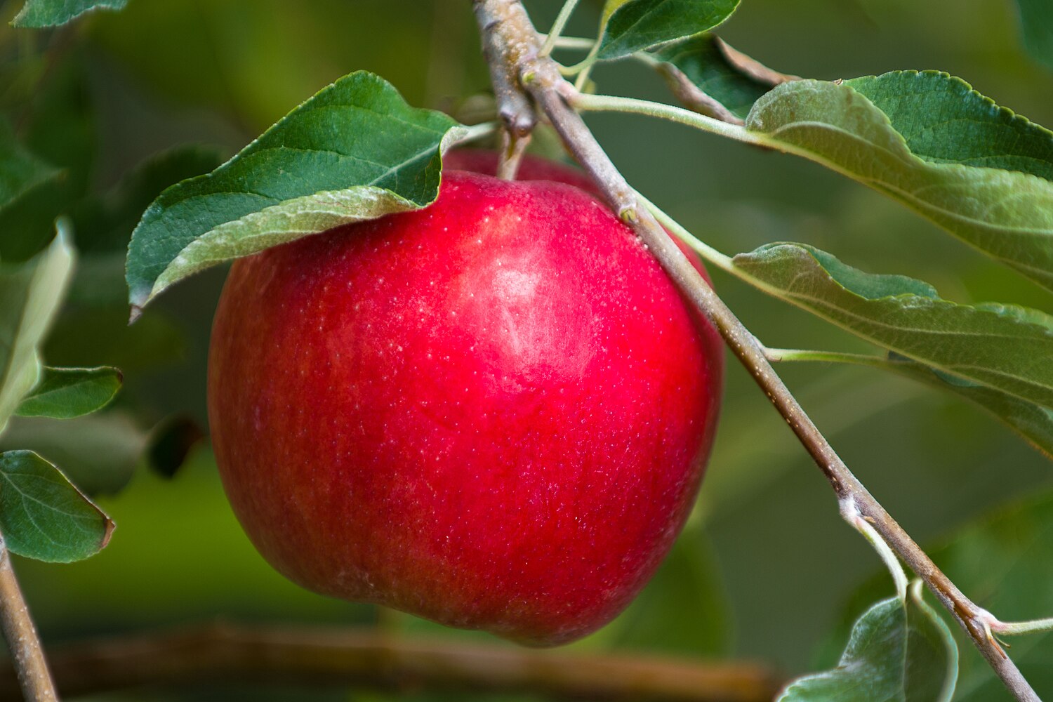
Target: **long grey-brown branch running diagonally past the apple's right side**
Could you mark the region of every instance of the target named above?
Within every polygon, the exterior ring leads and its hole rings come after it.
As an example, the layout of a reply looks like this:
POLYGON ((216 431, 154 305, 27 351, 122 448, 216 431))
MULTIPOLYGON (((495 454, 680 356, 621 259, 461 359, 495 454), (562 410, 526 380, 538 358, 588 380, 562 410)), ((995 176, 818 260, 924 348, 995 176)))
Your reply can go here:
MULTIPOLYGON (((549 118, 564 146, 592 176, 611 208, 615 213, 635 212, 636 217, 631 226, 637 236, 683 294, 717 327, 732 353, 753 376, 826 475, 838 501, 843 504, 846 500, 852 500, 855 507, 853 518, 857 516, 872 526, 874 533, 925 581, 1013 696, 1021 702, 1039 702, 1034 689, 991 636, 993 617, 990 613, 974 604, 951 582, 849 470, 776 374, 764 355, 763 346, 714 293, 648 207, 637 199, 633 188, 611 162, 581 116, 571 106, 579 99, 578 91, 562 78, 559 66, 552 59, 539 56, 538 36, 521 2, 473 2, 479 25, 483 29, 482 41, 484 54, 491 64, 491 74, 499 75, 505 81, 503 84, 495 82, 495 91, 506 92, 511 86, 522 94, 522 100, 528 100, 528 96, 532 98, 549 118), (515 80, 516 77, 519 78, 518 81, 515 80)), ((505 100, 512 103, 508 98, 505 100)), ((649 105, 649 109, 653 108, 649 105)), ((694 118, 712 121, 713 131, 734 131, 733 136, 738 138, 748 135, 737 125, 697 114, 694 118)), ((854 522, 853 526, 856 526, 854 522)))

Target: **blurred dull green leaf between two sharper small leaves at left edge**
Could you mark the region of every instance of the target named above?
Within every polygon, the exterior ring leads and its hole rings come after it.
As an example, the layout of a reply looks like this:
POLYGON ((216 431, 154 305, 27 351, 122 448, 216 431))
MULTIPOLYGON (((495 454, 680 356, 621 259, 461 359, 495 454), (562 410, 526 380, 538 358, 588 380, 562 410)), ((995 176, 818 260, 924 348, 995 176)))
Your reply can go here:
POLYGON ((76 419, 13 417, 0 450, 27 448, 55 465, 87 495, 120 492, 135 474, 150 435, 123 410, 76 419))

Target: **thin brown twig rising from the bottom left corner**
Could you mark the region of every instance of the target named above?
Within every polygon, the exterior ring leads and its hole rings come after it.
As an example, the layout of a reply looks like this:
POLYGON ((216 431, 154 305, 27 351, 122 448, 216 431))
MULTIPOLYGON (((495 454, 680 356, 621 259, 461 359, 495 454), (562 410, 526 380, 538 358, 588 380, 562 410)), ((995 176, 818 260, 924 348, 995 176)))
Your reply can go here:
MULTIPOLYGON (((47 660, 40 647, 37 629, 33 625, 29 610, 22 598, 22 590, 15 578, 11 565, 11 554, 0 536, 0 628, 3 629, 7 649, 11 651, 11 665, 17 678, 18 687, 27 702, 53 702, 58 700, 55 695, 55 683, 47 671, 47 660)), ((15 685, 8 695, 0 696, 5 700, 15 699, 18 695, 15 685)))

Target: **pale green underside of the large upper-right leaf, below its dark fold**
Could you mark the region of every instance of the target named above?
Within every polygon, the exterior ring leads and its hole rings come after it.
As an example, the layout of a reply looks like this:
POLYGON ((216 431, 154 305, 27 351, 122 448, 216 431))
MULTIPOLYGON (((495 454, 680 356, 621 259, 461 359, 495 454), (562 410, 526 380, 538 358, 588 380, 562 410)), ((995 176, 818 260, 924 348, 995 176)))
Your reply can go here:
POLYGON ((848 85, 794 81, 757 100, 747 128, 900 200, 1053 288, 1053 183, 1028 173, 926 161, 848 85))

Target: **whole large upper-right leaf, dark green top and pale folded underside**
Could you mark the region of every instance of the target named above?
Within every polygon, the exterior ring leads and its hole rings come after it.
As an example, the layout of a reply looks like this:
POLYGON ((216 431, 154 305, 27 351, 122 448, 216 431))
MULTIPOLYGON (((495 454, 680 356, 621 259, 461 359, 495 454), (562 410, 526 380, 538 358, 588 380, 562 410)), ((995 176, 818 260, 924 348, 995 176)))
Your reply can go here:
POLYGON ((791 81, 757 100, 746 127, 1053 288, 1053 133, 963 81, 935 72, 791 81))

